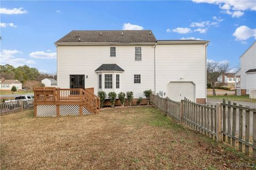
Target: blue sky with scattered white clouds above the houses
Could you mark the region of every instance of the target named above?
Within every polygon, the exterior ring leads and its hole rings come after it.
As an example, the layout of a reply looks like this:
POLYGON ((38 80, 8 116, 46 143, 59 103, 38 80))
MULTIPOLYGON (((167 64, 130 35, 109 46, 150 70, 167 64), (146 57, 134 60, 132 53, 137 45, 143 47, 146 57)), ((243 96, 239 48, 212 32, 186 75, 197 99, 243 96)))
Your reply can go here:
POLYGON ((210 40, 207 59, 236 67, 256 38, 256 1, 1 1, 1 64, 54 73, 54 42, 69 31, 122 29, 210 40))

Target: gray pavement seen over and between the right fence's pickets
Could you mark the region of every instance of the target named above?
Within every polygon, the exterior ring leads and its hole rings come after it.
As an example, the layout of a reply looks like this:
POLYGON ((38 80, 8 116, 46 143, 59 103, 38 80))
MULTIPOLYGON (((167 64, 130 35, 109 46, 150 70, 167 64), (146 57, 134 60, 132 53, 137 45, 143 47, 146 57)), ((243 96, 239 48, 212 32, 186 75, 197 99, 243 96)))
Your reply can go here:
MULTIPOLYGON (((222 100, 220 99, 209 99, 207 98, 207 104, 211 104, 211 105, 215 105, 216 103, 222 103, 222 100)), ((235 100, 230 100, 230 101, 234 101, 235 103, 237 103, 238 105, 243 105, 243 106, 247 106, 247 107, 253 107, 256 108, 256 103, 252 103, 252 102, 247 102, 247 101, 235 101, 235 100)), ((227 113, 226 113, 227 114, 227 113)), ((252 117, 253 117, 253 113, 250 112, 250 135, 252 135, 252 117)), ((230 114, 230 118, 231 120, 233 120, 233 109, 231 109, 231 114, 230 114)), ((236 114, 236 133, 238 133, 238 127, 239 127, 239 114, 236 114)), ((232 121, 231 121, 232 122, 232 121)), ((245 125, 245 112, 243 112, 243 124, 245 125)), ((227 123, 226 123, 227 125, 227 123)), ((226 127, 227 129, 228 127, 226 127)), ((232 132, 232 128, 231 128, 231 132, 232 132)), ((245 126, 243 127, 243 134, 245 135, 245 126)))

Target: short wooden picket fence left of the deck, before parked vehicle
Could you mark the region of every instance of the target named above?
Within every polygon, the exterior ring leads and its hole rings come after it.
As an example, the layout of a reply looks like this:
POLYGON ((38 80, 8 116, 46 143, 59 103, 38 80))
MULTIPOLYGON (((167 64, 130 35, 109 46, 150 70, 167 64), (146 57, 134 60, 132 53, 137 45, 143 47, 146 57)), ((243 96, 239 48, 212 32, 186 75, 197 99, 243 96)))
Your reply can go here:
POLYGON ((34 99, 26 100, 26 101, 16 100, 8 103, 1 103, 0 109, 1 109, 1 112, 0 112, 1 115, 34 109, 34 99))

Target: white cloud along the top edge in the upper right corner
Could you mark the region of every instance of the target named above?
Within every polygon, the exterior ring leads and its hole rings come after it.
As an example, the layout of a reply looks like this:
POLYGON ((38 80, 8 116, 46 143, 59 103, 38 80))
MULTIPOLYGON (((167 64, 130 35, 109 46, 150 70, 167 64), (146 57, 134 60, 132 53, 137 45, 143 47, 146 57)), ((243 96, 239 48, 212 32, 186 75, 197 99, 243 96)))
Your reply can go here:
POLYGON ((227 0, 192 0, 195 3, 209 3, 219 5, 223 13, 238 18, 244 15, 243 11, 256 11, 255 1, 227 1, 227 0))

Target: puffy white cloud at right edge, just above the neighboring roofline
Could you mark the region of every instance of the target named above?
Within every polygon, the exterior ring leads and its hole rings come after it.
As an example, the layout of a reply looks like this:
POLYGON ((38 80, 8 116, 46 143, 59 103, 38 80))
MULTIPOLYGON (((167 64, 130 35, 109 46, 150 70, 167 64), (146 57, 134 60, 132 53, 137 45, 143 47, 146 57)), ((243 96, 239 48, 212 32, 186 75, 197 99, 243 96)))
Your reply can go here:
POLYGON ((236 29, 233 36, 236 37, 236 40, 247 40, 251 37, 256 39, 256 29, 251 29, 246 25, 242 25, 236 29))

